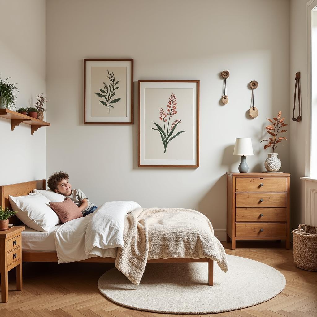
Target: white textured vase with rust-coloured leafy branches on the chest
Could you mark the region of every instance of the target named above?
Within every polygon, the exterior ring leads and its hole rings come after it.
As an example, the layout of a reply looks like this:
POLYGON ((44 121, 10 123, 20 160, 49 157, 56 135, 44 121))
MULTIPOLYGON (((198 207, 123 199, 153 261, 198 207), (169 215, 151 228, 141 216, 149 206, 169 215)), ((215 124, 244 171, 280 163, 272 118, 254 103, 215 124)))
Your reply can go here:
POLYGON ((272 136, 272 138, 268 138, 263 141, 267 141, 268 144, 264 146, 264 150, 271 147, 273 149, 273 153, 268 153, 268 158, 264 161, 264 166, 267 171, 269 172, 277 172, 281 168, 281 160, 277 157, 278 153, 274 153, 275 149, 277 148, 277 144, 281 143, 282 140, 287 140, 285 137, 278 137, 279 133, 284 133, 287 130, 281 130, 281 127, 288 126, 288 124, 284 123, 285 118, 281 118, 282 112, 279 111, 277 114, 277 118, 267 119, 270 121, 273 125, 266 126, 265 129, 267 129, 268 134, 272 136))

